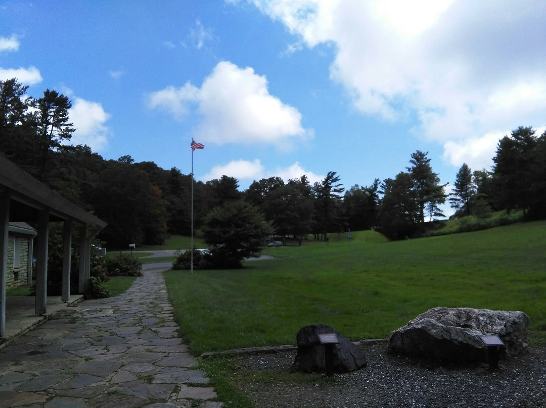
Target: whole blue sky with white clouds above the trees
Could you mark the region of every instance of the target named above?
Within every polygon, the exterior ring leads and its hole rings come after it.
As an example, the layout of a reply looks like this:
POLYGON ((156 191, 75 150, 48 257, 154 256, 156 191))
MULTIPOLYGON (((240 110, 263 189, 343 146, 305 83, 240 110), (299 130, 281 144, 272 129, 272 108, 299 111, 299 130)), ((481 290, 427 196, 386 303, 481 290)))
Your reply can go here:
POLYGON ((544 0, 0 0, 0 80, 67 95, 104 159, 190 174, 203 143, 203 182, 349 189, 419 150, 453 185, 546 129, 544 21, 544 0))

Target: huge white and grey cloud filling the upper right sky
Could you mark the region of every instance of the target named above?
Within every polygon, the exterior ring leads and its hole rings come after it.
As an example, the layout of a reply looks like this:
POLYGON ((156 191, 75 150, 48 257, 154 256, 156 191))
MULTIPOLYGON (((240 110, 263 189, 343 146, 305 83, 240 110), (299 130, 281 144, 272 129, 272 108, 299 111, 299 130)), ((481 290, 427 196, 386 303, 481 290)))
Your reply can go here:
POLYGON ((330 77, 367 115, 414 114, 414 133, 448 148, 482 146, 495 129, 542 125, 542 0, 247 1, 306 46, 333 44, 330 77))

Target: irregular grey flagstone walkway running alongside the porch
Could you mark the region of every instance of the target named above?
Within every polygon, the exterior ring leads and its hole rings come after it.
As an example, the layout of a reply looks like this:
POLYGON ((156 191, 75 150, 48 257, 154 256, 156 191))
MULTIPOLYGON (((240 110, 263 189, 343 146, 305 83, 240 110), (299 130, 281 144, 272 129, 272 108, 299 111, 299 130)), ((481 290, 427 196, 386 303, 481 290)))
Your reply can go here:
POLYGON ((0 350, 0 408, 220 408, 177 335, 162 271, 82 301, 0 350))

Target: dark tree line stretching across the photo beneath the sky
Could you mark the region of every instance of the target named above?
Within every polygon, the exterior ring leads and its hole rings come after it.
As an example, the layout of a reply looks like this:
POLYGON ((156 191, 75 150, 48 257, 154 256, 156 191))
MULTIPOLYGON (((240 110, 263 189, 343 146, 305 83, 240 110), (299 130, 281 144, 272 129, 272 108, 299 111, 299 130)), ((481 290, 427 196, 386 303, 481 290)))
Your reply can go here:
MULTIPOLYGON (((109 225, 99 235, 110 248, 129 243, 161 244, 169 235, 191 233, 192 176, 129 155, 105 160, 88 146, 72 146, 68 97, 46 89, 29 97, 16 79, 0 81, 0 152, 54 191, 109 225)), ((346 190, 335 171, 311 184, 306 176, 254 181, 239 191, 237 179, 194 184, 194 228, 207 214, 240 201, 257 208, 281 239, 328 239, 333 232, 379 229, 394 239, 413 236, 443 217, 449 200, 455 217, 485 217, 520 209, 527 218, 546 217, 546 133, 519 127, 498 142, 491 171, 462 165, 452 193, 432 170, 428 153, 412 153, 394 178, 346 190)), ((232 208, 233 207, 233 208, 232 208)), ((234 212, 236 213, 236 212, 234 212)), ((216 214, 218 215, 218 214, 216 214)), ((210 219, 210 217, 209 217, 210 219)))

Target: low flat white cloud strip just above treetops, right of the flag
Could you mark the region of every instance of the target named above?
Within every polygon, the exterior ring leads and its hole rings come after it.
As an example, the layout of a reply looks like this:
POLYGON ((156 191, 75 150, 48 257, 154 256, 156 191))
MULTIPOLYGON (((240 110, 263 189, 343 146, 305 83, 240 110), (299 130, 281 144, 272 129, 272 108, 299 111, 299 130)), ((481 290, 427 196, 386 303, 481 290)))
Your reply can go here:
POLYGON ((221 178, 222 176, 235 177, 239 181, 246 184, 252 183, 254 180, 262 178, 280 177, 285 182, 289 179, 300 178, 306 175, 308 181, 313 184, 320 182, 324 176, 317 175, 312 171, 306 171, 297 161, 288 167, 278 167, 277 169, 266 170, 265 166, 259 159, 249 160, 233 160, 228 164, 214 166, 211 171, 201 177, 204 181, 221 178))

